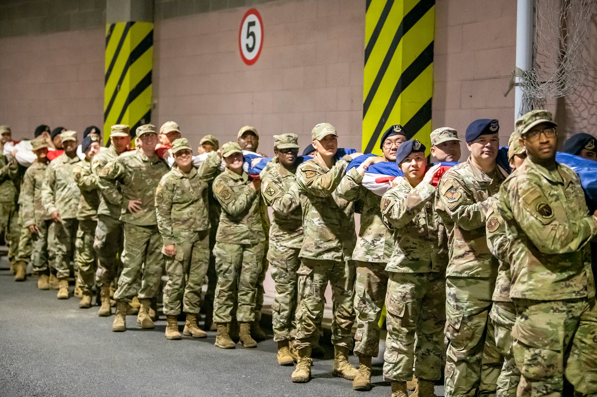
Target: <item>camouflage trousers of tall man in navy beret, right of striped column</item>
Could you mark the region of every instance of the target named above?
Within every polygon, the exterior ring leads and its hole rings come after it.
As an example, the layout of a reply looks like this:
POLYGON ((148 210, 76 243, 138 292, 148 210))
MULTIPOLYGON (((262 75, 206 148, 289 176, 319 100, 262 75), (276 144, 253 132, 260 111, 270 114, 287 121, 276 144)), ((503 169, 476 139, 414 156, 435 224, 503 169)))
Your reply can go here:
POLYGON ((491 277, 446 278, 446 397, 496 393, 503 358, 489 321, 495 285, 491 277))

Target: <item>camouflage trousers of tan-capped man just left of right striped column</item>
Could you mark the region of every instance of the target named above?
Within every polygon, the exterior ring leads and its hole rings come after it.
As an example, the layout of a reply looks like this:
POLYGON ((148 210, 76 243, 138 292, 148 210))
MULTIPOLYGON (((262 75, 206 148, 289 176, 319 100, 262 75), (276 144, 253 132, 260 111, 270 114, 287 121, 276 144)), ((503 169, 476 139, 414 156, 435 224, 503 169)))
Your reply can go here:
POLYGON ((355 263, 352 260, 301 258, 298 269, 297 349, 317 346, 319 328, 324 318, 325 289, 332 287, 332 343, 352 350, 355 324, 353 292, 355 290, 355 263))

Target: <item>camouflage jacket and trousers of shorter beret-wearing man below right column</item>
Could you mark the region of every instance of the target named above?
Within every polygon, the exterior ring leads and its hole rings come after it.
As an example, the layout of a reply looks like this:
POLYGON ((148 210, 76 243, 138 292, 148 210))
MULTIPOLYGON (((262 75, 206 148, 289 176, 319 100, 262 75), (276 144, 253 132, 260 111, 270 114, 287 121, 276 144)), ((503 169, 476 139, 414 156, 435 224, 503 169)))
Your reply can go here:
POLYGON ((393 229, 395 242, 386 266, 390 278, 383 374, 396 382, 413 378, 413 364, 418 379, 441 377, 448 247, 435 196, 427 182, 413 188, 401 178, 381 198, 381 216, 393 229))

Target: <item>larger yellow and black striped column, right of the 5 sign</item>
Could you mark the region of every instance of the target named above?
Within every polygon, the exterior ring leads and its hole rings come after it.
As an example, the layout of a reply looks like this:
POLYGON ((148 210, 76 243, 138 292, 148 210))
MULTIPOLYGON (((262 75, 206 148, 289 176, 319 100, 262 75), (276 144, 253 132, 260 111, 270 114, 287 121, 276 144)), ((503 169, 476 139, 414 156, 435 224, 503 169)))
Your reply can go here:
POLYGON ((430 147, 434 34, 435 0, 367 0, 365 153, 381 154, 381 134, 392 124, 430 147))

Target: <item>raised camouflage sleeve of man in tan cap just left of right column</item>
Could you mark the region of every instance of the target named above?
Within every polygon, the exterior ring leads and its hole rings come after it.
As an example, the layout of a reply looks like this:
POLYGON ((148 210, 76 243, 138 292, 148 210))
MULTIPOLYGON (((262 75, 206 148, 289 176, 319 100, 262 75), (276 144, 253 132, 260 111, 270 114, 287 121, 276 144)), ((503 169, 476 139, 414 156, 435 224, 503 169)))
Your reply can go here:
POLYGON ((348 162, 344 157, 338 160, 328 172, 323 172, 322 169, 310 162, 299 166, 297 170, 298 189, 317 197, 331 196, 346 173, 348 162))

